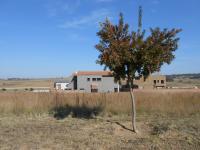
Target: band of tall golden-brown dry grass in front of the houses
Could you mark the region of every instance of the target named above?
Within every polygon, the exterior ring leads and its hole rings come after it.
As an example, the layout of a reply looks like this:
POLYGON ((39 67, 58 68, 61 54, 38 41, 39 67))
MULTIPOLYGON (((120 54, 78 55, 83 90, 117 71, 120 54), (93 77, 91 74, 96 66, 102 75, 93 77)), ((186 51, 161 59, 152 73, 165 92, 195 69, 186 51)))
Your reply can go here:
MULTIPOLYGON (((137 112, 191 114, 200 112, 198 90, 139 90, 137 112)), ((129 93, 0 92, 0 114, 41 114, 54 108, 101 107, 104 113, 130 114, 129 93)))

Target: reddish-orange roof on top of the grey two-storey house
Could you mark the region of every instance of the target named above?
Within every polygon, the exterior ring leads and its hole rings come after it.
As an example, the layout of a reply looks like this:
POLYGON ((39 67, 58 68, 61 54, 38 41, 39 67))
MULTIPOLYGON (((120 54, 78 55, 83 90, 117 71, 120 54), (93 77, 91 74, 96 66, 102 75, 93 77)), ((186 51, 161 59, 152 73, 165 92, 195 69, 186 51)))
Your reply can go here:
POLYGON ((84 75, 100 75, 100 76, 110 76, 112 75, 111 71, 78 71, 74 75, 84 76, 84 75))

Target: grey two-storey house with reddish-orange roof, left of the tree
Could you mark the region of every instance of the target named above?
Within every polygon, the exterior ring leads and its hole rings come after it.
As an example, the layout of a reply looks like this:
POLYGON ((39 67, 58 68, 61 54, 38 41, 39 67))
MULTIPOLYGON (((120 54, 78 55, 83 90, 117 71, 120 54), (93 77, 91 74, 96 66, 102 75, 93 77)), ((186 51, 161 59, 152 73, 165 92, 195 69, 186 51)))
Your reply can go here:
POLYGON ((119 92, 110 71, 79 71, 73 74, 73 90, 79 92, 119 92))

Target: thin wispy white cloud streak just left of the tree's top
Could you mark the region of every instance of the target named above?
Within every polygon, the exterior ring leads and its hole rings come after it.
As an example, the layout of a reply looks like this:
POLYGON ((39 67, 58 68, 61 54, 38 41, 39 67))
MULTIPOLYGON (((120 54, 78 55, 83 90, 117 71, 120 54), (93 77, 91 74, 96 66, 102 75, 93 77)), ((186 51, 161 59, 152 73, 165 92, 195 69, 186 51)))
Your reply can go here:
POLYGON ((110 18, 110 12, 107 9, 93 11, 88 16, 68 20, 64 24, 59 25, 60 28, 81 28, 83 26, 98 24, 106 17, 110 18))

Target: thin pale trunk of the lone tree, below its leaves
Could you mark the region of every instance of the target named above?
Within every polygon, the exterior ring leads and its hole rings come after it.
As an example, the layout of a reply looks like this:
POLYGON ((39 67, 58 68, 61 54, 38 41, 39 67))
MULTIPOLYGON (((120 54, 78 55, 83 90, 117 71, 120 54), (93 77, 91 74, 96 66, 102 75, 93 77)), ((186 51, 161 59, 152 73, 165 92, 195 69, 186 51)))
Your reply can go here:
POLYGON ((133 132, 137 133, 137 130, 136 130, 135 98, 134 98, 134 95, 133 95, 132 83, 130 83, 130 82, 129 82, 129 89, 130 89, 131 104, 132 104, 132 126, 133 126, 133 132))

